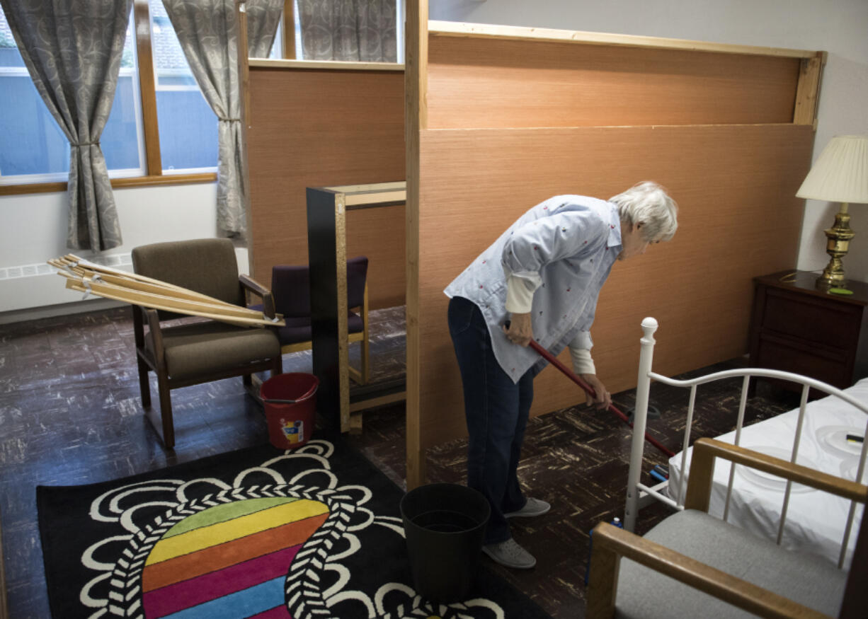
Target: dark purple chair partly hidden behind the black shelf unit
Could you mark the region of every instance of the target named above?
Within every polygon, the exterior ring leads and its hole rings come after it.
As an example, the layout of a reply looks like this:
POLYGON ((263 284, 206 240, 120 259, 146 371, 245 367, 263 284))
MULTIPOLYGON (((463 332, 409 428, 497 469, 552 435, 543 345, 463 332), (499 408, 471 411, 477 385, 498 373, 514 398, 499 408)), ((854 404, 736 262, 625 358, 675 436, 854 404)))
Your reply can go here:
MULTIPOLYGON (((361 369, 349 368, 350 377, 360 385, 370 377, 368 343, 368 258, 346 261, 346 327, 348 339, 361 342, 361 369), (356 311, 353 311, 356 310, 356 311)), ((280 351, 294 353, 311 348, 311 289, 308 267, 278 264, 272 268, 274 309, 282 314, 286 327, 277 331, 280 351)))

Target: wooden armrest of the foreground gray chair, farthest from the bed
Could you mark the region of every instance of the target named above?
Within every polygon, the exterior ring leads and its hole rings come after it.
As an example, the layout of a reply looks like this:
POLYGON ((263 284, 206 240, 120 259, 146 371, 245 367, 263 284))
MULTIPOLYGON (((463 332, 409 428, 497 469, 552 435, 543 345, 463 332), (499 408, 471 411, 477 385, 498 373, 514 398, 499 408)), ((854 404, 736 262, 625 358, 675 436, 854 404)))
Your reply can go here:
POLYGON ((627 557, 755 615, 778 619, 828 618, 817 610, 809 609, 620 527, 600 523, 594 527, 593 539, 587 612, 590 619, 615 616, 621 557, 627 557))

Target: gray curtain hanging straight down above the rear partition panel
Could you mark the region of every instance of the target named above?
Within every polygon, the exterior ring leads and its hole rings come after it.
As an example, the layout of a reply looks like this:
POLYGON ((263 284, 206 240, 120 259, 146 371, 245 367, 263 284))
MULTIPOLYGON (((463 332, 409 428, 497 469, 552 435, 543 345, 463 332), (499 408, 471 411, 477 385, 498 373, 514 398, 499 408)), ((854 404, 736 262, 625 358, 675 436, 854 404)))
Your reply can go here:
POLYGON ((299 0, 305 60, 397 62, 395 0, 299 0))

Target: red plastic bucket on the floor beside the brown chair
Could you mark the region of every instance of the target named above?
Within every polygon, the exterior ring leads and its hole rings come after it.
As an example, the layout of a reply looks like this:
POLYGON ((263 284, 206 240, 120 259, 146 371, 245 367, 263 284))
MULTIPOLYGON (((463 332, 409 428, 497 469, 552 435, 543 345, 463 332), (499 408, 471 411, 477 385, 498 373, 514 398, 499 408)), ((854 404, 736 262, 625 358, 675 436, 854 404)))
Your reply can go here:
POLYGON ((266 409, 268 440, 278 449, 304 445, 313 433, 319 379, 312 374, 287 372, 260 387, 266 409))

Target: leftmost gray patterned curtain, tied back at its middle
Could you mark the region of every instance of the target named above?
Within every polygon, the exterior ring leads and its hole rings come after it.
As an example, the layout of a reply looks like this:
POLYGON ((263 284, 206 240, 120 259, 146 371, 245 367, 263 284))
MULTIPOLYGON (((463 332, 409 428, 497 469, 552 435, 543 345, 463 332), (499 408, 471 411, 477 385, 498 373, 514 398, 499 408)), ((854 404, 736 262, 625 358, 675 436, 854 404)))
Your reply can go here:
POLYGON ((72 249, 122 244, 100 135, 109 120, 132 0, 0 0, 30 73, 69 140, 72 249))

